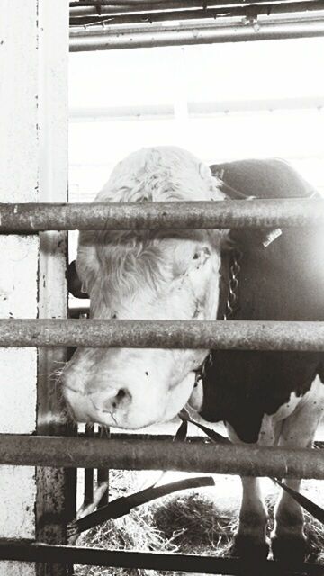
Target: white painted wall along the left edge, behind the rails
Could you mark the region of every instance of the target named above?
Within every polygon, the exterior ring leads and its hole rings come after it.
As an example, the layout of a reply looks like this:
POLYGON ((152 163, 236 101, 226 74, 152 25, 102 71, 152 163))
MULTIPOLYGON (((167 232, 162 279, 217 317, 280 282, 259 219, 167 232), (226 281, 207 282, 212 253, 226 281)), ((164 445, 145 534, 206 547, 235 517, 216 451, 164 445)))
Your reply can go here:
MULTIPOLYGON (((67 199, 68 2, 3 0, 1 9, 0 202, 62 202, 67 199)), ((56 247, 51 238, 45 242, 44 248, 38 235, 0 236, 1 318, 37 318, 39 272, 44 276, 48 267, 50 277, 57 277, 58 304, 47 300, 43 281, 40 315, 66 313, 66 243, 61 237, 55 237, 56 247)), ((35 432, 37 350, 0 348, 0 368, 0 433, 35 432)), ((61 476, 61 490, 64 481, 61 476)), ((34 468, 2 467, 1 537, 36 536, 37 491, 34 468)), ((35 565, 0 563, 0 576, 22 573, 34 575, 35 565)))

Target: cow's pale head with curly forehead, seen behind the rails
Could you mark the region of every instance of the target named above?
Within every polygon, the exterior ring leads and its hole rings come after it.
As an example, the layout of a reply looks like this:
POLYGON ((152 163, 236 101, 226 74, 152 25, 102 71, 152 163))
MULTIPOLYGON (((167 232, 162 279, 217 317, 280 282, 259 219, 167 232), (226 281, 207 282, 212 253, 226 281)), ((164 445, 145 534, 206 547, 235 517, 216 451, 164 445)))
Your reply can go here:
MULTIPOLYGON (((161 147, 126 157, 96 202, 222 198, 207 166, 180 148, 161 147)), ((82 232, 76 268, 90 295, 92 318, 216 318, 217 230, 82 232)), ((121 428, 171 419, 188 400, 193 370, 207 352, 78 348, 62 374, 67 404, 78 421, 121 428)))

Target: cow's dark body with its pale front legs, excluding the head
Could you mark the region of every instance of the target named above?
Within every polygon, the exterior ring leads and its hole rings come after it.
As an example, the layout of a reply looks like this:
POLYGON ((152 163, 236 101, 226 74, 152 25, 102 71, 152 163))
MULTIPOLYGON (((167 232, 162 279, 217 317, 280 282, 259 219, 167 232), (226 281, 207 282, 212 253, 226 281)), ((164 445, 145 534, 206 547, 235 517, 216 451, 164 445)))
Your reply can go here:
MULTIPOLYGON (((248 202, 250 195, 265 199, 318 195, 281 160, 243 160, 211 169, 221 176, 223 191, 242 202, 248 202)), ((222 257, 218 318, 223 318, 229 263, 236 254, 238 302, 229 321, 324 320, 324 231, 283 229, 266 247, 267 235, 267 230, 229 233, 232 245, 222 257)), ((233 442, 311 446, 324 410, 324 353, 213 350, 211 362, 205 364, 202 389, 193 391, 190 403, 204 419, 224 420, 233 442)), ((285 481, 295 491, 300 482, 285 481)), ((267 511, 259 479, 243 477, 242 484, 233 554, 266 557, 267 511)), ((293 563, 304 558, 302 510, 284 491, 275 506, 271 541, 276 560, 293 563)))

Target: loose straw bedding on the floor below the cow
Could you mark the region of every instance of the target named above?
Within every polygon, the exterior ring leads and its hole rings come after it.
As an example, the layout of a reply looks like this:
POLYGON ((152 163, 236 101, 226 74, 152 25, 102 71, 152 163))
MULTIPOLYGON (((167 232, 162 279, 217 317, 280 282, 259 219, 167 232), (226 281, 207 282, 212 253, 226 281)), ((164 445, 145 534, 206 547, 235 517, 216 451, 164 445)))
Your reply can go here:
MULTIPOLYGON (((146 473, 111 471, 111 499, 139 490, 146 473)), ((221 482, 217 478, 217 487, 221 482)), ((81 535, 77 545, 139 552, 168 552, 228 556, 232 534, 236 528, 239 480, 233 482, 232 499, 218 498, 219 492, 211 489, 178 492, 133 509, 129 515, 109 520, 81 535), (237 482, 237 483, 235 483, 237 482), (236 486, 236 488, 235 488, 236 486), (234 499, 234 507, 233 507, 234 499), (220 509, 220 506, 221 509, 220 509)), ((310 498, 323 500, 320 483, 304 482, 304 493, 310 498)), ((323 502, 321 502, 323 504, 323 502)), ((267 498, 272 518, 275 493, 267 498)), ((305 532, 309 538, 308 561, 324 563, 324 529, 319 522, 306 516, 305 532)), ((269 533, 273 520, 269 522, 269 533)), ((76 566, 76 576, 157 576, 175 572, 154 570, 105 568, 100 566, 76 566)))

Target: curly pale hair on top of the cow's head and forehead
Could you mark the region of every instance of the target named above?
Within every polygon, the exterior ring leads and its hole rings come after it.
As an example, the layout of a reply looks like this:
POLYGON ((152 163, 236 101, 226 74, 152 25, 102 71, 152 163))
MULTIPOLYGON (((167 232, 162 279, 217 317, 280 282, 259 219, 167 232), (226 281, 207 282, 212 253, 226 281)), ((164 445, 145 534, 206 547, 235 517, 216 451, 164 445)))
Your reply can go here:
MULTIPOLYGON (((222 200, 218 186, 210 168, 186 150, 143 148, 115 167, 94 202, 222 200)), ((170 278, 164 262, 166 251, 161 249, 166 244, 163 238, 174 238, 178 243, 181 238, 196 241, 208 238, 217 249, 219 234, 202 230, 85 231, 79 237, 77 272, 85 290, 91 293, 96 284, 99 296, 110 293, 112 297, 117 291, 134 293, 140 282, 156 289, 157 283, 166 283, 170 278)))

